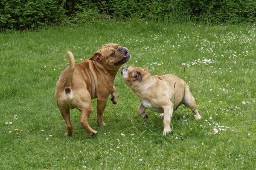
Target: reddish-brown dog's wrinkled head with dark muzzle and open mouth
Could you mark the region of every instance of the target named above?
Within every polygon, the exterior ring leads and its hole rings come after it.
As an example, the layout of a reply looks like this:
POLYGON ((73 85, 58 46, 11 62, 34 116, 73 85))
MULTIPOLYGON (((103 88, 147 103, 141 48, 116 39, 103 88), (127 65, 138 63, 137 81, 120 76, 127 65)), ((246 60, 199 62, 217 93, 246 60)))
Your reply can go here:
POLYGON ((121 65, 131 59, 126 47, 120 47, 118 44, 105 44, 96 51, 90 60, 101 62, 102 65, 111 70, 118 70, 121 65))

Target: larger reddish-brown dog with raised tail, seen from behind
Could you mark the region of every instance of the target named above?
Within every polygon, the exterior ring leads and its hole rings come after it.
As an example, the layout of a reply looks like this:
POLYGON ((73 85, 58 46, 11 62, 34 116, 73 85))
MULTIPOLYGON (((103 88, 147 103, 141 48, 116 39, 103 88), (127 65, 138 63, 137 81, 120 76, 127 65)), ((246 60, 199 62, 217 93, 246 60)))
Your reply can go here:
POLYGON ((116 88, 113 86, 118 69, 129 61, 131 55, 128 49, 118 44, 103 45, 86 62, 75 65, 75 59, 67 51, 70 67, 60 75, 56 85, 55 99, 58 108, 67 124, 67 133, 73 135, 73 125, 70 122, 70 109, 77 108, 81 112, 81 125, 88 135, 98 132, 93 130, 87 122, 91 112, 91 99, 97 99, 97 122, 105 126, 103 112, 108 97, 116 104, 116 88))

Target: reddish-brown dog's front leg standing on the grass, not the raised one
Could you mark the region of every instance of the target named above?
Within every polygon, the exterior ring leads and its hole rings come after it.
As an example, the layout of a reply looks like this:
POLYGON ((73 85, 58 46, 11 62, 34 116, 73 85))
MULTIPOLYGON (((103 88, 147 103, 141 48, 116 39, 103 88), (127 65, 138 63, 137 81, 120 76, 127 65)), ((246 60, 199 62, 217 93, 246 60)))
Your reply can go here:
POLYGON ((97 99, 97 123, 100 126, 105 126, 103 121, 103 112, 106 108, 108 98, 98 97, 97 99))

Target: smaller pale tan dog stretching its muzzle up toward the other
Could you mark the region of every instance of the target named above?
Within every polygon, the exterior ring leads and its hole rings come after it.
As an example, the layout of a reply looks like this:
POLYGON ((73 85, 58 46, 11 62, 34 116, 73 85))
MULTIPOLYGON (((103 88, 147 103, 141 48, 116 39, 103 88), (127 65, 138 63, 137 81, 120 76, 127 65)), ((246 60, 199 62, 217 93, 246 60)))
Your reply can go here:
POLYGON ((145 113, 147 108, 154 112, 164 112, 163 135, 171 131, 172 111, 181 104, 192 110, 195 119, 201 119, 195 99, 183 79, 172 74, 151 76, 148 69, 138 67, 122 67, 121 74, 126 85, 141 101, 137 112, 144 121, 148 120, 148 114, 145 113))

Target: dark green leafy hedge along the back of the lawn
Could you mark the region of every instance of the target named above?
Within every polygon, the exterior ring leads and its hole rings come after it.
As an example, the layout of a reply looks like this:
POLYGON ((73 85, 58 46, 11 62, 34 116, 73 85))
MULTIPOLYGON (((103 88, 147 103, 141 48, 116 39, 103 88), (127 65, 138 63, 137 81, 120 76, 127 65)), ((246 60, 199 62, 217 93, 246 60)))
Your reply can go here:
POLYGON ((256 22, 256 0, 1 0, 0 28, 134 18, 205 23, 256 22))

